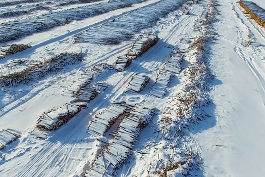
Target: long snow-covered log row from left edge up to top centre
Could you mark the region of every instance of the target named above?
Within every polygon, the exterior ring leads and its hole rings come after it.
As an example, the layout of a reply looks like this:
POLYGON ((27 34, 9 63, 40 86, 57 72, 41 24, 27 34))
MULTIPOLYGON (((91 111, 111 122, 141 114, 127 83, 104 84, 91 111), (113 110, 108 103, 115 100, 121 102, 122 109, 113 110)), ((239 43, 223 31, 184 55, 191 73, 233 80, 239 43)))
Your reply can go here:
MULTIPOLYGON (((130 7, 133 4, 147 0, 110 0, 109 2, 93 4, 59 12, 50 12, 39 16, 17 19, 0 24, 0 42, 7 42, 21 36, 30 35, 39 31, 65 25, 74 20, 82 20, 113 10, 130 7)), ((0 4, 1 6, 1 4, 0 4)))

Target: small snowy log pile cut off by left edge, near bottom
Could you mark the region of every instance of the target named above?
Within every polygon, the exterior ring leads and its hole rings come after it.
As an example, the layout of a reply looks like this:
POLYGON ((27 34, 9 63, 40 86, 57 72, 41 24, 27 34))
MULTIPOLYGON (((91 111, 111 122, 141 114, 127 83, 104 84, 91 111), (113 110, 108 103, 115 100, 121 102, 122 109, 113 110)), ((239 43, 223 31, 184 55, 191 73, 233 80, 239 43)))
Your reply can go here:
POLYGON ((4 149, 8 144, 16 141, 21 136, 10 129, 3 129, 0 131, 0 149, 4 149))

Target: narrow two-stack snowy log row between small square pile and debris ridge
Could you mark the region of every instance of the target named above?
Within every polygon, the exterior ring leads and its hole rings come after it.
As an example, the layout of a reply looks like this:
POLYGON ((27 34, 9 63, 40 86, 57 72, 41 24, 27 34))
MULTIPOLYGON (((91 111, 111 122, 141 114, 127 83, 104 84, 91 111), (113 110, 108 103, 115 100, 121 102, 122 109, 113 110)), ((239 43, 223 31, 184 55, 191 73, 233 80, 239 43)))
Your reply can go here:
POLYGON ((179 74, 182 69, 182 61, 183 58, 179 51, 176 50, 171 53, 168 62, 164 65, 163 69, 158 72, 150 95, 158 98, 163 98, 163 96, 166 95, 172 77, 174 74, 179 74))

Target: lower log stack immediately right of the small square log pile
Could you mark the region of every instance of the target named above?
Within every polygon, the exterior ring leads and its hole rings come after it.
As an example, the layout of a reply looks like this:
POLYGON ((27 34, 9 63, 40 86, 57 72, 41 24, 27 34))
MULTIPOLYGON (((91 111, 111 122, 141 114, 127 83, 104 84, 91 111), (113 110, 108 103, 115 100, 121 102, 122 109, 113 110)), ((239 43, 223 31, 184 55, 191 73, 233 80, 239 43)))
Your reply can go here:
POLYGON ((173 75, 171 72, 160 70, 150 94, 155 97, 162 98, 167 93, 167 88, 172 77, 173 75))

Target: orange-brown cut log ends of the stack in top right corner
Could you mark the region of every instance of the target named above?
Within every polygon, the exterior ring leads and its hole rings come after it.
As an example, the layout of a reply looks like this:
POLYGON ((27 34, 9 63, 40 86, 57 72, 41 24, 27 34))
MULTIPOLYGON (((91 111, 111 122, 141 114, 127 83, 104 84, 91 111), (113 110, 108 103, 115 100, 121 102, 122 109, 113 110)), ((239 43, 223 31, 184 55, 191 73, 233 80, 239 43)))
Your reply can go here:
MULTIPOLYGON (((242 0, 239 1, 239 5, 246 11, 246 13, 248 13, 250 15, 251 18, 254 19, 254 21, 257 24, 259 24, 260 26, 265 28, 265 19, 264 19, 265 15, 263 15, 263 19, 262 19, 262 17, 259 17, 253 10, 251 10, 246 4, 244 4, 242 0)), ((263 10, 260 7, 258 7, 256 4, 255 4, 255 6, 256 6, 257 9, 260 10, 260 13, 265 14, 265 10, 263 10)))

